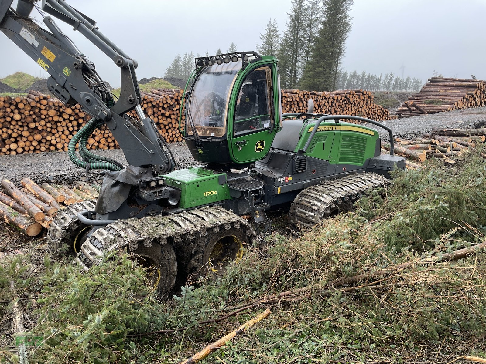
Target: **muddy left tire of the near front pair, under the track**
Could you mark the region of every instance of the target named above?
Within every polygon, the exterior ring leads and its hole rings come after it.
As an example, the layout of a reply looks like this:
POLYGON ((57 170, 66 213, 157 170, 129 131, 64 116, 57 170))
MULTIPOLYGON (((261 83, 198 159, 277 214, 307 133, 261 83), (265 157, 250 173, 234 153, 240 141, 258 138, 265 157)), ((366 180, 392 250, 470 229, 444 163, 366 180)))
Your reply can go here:
POLYGON ((177 261, 174 249, 169 244, 161 245, 156 241, 140 242, 138 248, 131 249, 138 263, 148 267, 148 279, 156 289, 157 296, 166 297, 174 288, 177 276, 177 261))

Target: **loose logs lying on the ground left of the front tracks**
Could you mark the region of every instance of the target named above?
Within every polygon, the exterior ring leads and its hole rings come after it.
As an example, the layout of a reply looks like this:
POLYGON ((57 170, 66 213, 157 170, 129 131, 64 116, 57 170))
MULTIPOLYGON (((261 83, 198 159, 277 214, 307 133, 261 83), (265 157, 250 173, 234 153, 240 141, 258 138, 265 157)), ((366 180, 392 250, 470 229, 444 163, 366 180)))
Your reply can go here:
POLYGON ((98 198, 98 192, 85 182, 71 188, 64 185, 36 184, 23 178, 22 187, 7 179, 0 181, 0 220, 27 236, 38 235, 48 228, 57 212, 75 202, 98 198))

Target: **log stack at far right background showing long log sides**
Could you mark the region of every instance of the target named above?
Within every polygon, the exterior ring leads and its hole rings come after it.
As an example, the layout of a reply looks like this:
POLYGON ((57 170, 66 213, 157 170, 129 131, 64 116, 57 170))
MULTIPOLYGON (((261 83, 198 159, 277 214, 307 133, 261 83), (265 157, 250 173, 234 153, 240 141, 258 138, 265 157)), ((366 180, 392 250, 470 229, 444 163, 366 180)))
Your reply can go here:
POLYGON ((398 117, 485 106, 486 81, 432 77, 397 110, 398 117))

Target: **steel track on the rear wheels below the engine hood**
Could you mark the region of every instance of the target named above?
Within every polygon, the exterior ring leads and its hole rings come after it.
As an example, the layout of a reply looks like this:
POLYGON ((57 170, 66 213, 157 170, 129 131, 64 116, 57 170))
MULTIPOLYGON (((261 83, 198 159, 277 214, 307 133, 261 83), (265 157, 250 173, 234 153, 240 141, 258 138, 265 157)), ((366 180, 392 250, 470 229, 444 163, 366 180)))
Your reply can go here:
POLYGON ((372 172, 321 182, 297 195, 289 211, 289 220, 297 228, 310 228, 337 211, 349 210, 363 192, 388 182, 385 177, 372 172))

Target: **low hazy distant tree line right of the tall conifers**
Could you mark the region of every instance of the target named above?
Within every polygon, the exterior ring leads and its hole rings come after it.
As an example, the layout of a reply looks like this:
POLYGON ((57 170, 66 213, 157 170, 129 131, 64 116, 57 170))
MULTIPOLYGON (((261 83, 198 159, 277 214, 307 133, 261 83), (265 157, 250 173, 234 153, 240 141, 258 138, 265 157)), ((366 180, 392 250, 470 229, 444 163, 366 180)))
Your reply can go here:
POLYGON ((385 74, 383 77, 372 75, 363 71, 358 73, 353 72, 338 72, 336 76, 336 89, 349 90, 349 89, 364 89, 368 91, 404 91, 404 92, 418 92, 422 87, 422 80, 418 78, 411 78, 407 76, 401 78, 395 76, 393 72, 385 74))

